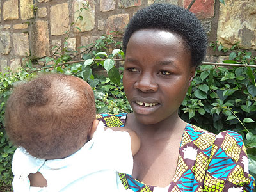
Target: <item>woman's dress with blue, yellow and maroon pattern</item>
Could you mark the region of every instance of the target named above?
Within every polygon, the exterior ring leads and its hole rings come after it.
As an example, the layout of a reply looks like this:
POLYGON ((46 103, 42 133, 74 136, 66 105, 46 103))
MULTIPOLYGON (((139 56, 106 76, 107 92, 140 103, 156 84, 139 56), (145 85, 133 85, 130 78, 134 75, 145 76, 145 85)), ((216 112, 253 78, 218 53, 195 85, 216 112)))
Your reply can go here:
MULTIPOLYGON (((97 118, 106 127, 124 127, 126 116, 98 114, 97 118)), ((255 186, 241 135, 233 131, 216 135, 191 124, 184 130, 175 175, 166 188, 148 186, 124 173, 119 176, 125 189, 136 192, 252 192, 255 186)))

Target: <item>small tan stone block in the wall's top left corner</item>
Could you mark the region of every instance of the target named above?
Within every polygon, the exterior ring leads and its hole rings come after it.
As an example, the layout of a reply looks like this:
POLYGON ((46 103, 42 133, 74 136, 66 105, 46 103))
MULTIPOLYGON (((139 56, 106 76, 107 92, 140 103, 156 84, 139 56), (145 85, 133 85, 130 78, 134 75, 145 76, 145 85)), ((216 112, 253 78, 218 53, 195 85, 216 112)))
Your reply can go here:
POLYGON ((8 0, 4 2, 3 19, 4 20, 19 19, 18 0, 8 0))

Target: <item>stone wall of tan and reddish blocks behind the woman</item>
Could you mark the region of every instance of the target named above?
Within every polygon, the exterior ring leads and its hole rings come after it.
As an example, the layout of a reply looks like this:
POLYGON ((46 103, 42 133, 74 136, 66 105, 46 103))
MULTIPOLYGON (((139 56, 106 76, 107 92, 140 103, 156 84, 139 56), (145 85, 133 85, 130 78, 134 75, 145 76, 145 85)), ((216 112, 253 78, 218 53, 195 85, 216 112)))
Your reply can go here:
MULTIPOLYGON (((210 42, 218 40, 230 47, 241 42, 245 49, 256 49, 256 1, 196 0, 191 11, 201 20, 210 42)), ((51 56, 60 46, 77 18, 83 0, 0 0, 0 70, 16 70, 22 58, 51 56)), ((152 3, 172 3, 187 8, 191 0, 90 0, 67 40, 70 51, 94 42, 109 31, 124 31, 137 10, 152 3)), ((213 61, 208 53, 208 60, 213 61)), ((214 60, 216 61, 216 59, 214 60)))

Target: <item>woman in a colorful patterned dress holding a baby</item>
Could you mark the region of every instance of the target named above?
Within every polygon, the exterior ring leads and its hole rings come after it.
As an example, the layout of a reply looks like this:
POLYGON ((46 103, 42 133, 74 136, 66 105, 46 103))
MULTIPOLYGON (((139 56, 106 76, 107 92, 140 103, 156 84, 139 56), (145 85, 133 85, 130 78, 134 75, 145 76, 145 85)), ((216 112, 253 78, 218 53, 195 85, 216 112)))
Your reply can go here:
POLYGON ((132 175, 120 173, 125 188, 253 191, 241 136, 232 131, 216 136, 178 115, 207 48, 195 15, 171 4, 152 4, 129 22, 123 46, 124 90, 133 113, 98 118, 107 127, 132 127, 141 138, 132 175))

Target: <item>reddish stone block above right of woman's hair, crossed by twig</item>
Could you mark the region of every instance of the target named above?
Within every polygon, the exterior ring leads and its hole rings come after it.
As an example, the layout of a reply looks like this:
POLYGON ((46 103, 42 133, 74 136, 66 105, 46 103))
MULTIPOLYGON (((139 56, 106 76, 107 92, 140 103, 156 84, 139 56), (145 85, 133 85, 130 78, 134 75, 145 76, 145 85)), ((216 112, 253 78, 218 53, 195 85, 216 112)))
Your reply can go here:
MULTIPOLYGON (((191 0, 184 0, 184 8, 188 8, 191 0)), ((190 11, 195 13, 198 19, 207 19, 214 16, 214 0, 197 0, 191 6, 190 11)))

